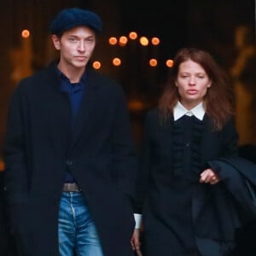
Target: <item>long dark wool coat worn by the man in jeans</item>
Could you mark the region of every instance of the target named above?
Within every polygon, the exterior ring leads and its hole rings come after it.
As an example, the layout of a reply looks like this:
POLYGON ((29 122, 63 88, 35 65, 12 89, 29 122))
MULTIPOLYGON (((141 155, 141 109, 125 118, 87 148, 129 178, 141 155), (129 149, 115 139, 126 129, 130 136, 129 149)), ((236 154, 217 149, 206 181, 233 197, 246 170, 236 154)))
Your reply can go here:
POLYGON ((125 95, 111 79, 87 72, 73 130, 55 63, 23 79, 11 100, 6 188, 13 229, 26 255, 59 255, 58 212, 67 168, 88 201, 104 255, 132 255, 137 163, 125 95))

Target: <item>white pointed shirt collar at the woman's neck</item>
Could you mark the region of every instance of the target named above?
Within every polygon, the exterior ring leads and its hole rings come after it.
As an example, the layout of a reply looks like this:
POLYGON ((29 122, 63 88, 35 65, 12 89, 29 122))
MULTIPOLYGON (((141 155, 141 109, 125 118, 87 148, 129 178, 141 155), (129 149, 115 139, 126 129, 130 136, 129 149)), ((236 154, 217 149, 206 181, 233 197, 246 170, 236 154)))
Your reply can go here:
POLYGON ((190 110, 184 108, 181 102, 177 102, 177 105, 173 108, 173 118, 175 121, 177 119, 182 118, 183 115, 194 115, 197 119, 202 120, 204 118, 205 113, 206 110, 203 106, 203 102, 199 103, 197 106, 195 106, 195 108, 192 108, 190 110))

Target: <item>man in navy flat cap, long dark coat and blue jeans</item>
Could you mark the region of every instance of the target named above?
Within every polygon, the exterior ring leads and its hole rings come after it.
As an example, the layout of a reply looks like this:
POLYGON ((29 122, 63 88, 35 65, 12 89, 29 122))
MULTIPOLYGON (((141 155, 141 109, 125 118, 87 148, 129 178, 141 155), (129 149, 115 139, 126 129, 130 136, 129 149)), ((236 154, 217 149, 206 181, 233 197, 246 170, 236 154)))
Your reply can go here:
POLYGON ((64 9, 60 52, 9 109, 6 189, 20 255, 131 256, 137 161, 121 87, 87 65, 102 20, 64 9))

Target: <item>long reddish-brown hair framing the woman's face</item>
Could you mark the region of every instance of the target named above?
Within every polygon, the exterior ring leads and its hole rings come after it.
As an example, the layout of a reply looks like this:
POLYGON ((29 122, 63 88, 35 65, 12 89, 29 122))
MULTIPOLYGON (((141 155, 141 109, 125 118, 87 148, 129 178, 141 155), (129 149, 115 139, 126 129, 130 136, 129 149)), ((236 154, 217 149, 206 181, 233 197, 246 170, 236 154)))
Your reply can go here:
POLYGON ((160 119, 165 121, 172 116, 174 106, 179 100, 177 86, 178 69, 184 61, 195 61, 207 73, 212 80, 212 86, 208 88, 204 97, 204 106, 207 115, 212 119, 213 130, 221 130, 224 123, 234 115, 234 94, 230 78, 207 51, 195 48, 183 48, 177 52, 174 58, 171 77, 166 83, 165 90, 160 97, 160 119))

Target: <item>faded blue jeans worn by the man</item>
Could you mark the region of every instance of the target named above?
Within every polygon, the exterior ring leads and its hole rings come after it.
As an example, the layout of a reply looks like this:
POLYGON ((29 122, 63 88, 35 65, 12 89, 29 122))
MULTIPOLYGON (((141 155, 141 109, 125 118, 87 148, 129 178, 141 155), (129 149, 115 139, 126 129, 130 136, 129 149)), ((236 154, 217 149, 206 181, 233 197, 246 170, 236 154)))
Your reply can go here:
POLYGON ((81 192, 62 192, 59 251, 60 256, 103 256, 96 226, 81 192))

